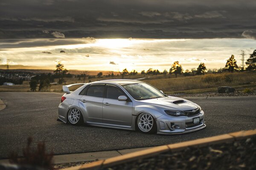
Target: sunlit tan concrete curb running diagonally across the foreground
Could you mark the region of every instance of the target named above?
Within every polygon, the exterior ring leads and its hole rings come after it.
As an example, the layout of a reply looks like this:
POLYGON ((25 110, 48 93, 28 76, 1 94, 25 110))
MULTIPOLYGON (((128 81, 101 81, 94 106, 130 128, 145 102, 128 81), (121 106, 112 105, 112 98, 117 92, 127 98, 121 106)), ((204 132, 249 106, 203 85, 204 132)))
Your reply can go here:
POLYGON ((168 150, 177 151, 186 147, 203 147, 210 144, 218 144, 222 142, 233 142, 236 140, 246 139, 250 136, 256 135, 256 130, 240 131, 235 133, 224 134, 220 136, 213 136, 204 139, 196 139, 187 142, 180 142, 176 144, 163 145, 159 147, 152 147, 150 149, 141 150, 133 153, 128 153, 122 156, 95 161, 89 164, 83 164, 77 167, 70 167, 63 170, 97 170, 99 168, 106 168, 117 164, 122 164, 128 161, 134 161, 145 157, 157 155, 168 150))

